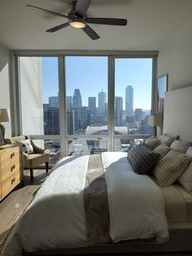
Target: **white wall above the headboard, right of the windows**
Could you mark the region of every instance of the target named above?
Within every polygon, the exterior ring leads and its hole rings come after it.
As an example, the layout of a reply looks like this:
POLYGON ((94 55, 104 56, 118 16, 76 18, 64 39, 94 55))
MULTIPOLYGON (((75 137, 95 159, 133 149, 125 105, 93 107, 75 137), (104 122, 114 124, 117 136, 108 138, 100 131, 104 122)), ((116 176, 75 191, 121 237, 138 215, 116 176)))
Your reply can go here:
POLYGON ((168 73, 168 90, 192 86, 192 20, 159 49, 158 77, 168 73))

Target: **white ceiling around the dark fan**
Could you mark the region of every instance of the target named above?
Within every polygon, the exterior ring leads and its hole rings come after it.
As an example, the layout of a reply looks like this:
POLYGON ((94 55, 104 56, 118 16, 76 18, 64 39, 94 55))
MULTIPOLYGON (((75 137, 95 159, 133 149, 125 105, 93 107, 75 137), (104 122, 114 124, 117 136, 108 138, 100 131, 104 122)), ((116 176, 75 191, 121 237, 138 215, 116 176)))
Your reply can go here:
POLYGON ((0 45, 17 50, 159 50, 192 19, 192 0, 92 0, 88 16, 128 19, 126 27, 91 24, 100 35, 92 41, 62 17, 27 8, 27 4, 68 14, 69 0, 0 0, 0 45))

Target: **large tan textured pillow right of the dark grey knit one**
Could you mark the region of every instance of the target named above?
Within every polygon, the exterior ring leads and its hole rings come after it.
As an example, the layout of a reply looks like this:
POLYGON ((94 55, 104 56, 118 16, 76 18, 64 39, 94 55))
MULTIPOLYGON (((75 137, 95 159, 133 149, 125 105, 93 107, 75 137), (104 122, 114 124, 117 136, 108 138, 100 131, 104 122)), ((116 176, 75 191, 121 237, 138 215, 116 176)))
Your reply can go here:
POLYGON ((169 151, 155 166, 153 175, 161 187, 174 183, 189 165, 192 157, 177 150, 169 151))

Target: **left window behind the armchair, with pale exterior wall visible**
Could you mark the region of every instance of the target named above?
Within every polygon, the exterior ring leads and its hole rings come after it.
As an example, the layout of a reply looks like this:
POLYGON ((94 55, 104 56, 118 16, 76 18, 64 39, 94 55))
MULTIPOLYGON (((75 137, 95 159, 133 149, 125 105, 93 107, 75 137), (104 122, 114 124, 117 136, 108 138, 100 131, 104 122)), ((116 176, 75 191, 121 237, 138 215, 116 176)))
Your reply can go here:
POLYGON ((50 164, 60 157, 59 73, 57 57, 20 57, 21 132, 50 153, 50 164), (39 135, 39 138, 38 138, 39 135), (41 139, 47 135, 47 139, 41 139))

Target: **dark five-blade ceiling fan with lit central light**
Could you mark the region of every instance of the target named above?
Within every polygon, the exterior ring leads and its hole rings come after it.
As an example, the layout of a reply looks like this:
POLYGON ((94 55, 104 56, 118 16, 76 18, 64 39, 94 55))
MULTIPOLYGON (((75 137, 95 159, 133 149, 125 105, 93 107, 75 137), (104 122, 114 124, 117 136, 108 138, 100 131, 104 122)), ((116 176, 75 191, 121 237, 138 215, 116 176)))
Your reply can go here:
POLYGON ((86 15, 86 12, 89 8, 91 0, 76 0, 72 2, 71 10, 68 12, 68 15, 63 15, 61 13, 50 11, 43 9, 41 7, 35 7, 32 5, 27 5, 26 7, 33 7, 39 9, 41 11, 46 11, 52 15, 58 15, 60 17, 68 19, 68 22, 59 24, 58 26, 47 29, 46 32, 53 33, 58 31, 59 29, 64 29, 68 27, 68 25, 72 26, 72 28, 83 29, 83 31, 91 38, 92 40, 96 40, 99 37, 98 33, 91 29, 89 24, 107 24, 107 25, 118 25, 118 26, 126 26, 126 19, 116 19, 116 18, 89 18, 86 15))

